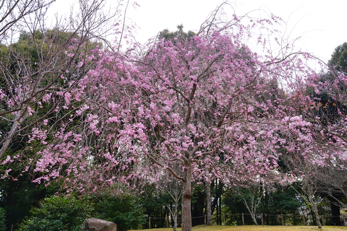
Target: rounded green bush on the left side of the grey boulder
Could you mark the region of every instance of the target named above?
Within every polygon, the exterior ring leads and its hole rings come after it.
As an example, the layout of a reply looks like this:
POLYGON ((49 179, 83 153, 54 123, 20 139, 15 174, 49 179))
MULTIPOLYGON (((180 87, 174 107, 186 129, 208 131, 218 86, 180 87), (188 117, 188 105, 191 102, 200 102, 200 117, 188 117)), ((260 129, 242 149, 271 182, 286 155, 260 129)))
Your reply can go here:
POLYGON ((80 231, 84 220, 93 215, 93 203, 90 197, 52 196, 43 199, 31 214, 19 231, 80 231))

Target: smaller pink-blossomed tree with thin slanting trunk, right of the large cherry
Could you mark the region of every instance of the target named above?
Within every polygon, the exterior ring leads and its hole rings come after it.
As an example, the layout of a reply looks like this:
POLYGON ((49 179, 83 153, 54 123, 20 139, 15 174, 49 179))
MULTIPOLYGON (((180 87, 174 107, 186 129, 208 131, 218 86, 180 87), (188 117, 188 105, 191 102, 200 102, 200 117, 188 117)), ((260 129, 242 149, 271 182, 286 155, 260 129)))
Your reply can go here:
MULTIPOLYGON (((311 84, 308 81, 308 86, 311 84)), ((290 178, 296 182, 300 190, 296 190, 295 187, 293 189, 312 208, 318 228, 321 228, 317 209, 318 192, 321 191, 324 179, 321 174, 327 168, 343 169, 341 167, 345 163, 344 129, 338 127, 341 126, 341 118, 343 120, 344 116, 338 109, 335 115, 329 109, 326 110, 330 100, 323 105, 321 98, 307 92, 307 89, 298 89, 288 100, 291 101, 291 110, 297 116, 289 119, 289 129, 283 132, 283 137, 291 142, 283 146, 286 152, 281 160, 286 166, 284 174, 289 176, 288 182, 290 178), (292 145, 288 146, 289 143, 292 145)))

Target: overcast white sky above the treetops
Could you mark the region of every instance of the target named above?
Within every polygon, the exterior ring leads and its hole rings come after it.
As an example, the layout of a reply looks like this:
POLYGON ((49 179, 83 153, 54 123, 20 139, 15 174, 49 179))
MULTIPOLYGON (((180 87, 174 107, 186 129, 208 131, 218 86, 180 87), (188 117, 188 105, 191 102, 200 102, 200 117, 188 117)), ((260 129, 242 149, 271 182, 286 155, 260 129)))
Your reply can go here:
MULTIPOLYGON (((53 10, 68 9, 71 1, 56 0, 53 10)), ((111 0, 109 0, 111 1, 111 0)), ((184 30, 198 30, 208 14, 221 0, 137 0, 140 7, 129 8, 127 17, 136 22, 139 29, 137 41, 144 43, 159 31, 175 31, 178 24, 184 30)), ((303 36, 296 46, 325 60, 337 45, 347 41, 347 1, 345 0, 237 0, 230 1, 236 15, 255 9, 263 9, 281 17, 288 24, 291 38, 303 36)), ((230 12, 232 14, 232 12, 230 12)), ((284 31, 284 28, 281 29, 284 31)), ((288 33, 287 33, 288 34, 288 33)))

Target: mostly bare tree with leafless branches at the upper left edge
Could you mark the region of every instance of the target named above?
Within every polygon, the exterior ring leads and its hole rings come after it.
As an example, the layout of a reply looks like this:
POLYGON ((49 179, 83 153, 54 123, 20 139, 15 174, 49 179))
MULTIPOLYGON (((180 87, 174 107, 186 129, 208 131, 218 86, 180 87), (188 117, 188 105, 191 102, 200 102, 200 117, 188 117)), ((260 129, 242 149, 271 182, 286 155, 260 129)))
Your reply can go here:
POLYGON ((44 19, 52 2, 4 0, 0 6, 0 39, 16 31, 27 46, 9 44, 0 57, 0 158, 14 137, 21 140, 33 133, 33 125, 64 110, 65 93, 95 62, 85 60, 86 54, 101 46, 97 41, 105 40, 106 25, 119 19, 121 7, 107 12, 106 0, 81 0, 75 13, 57 17, 47 30, 44 19))

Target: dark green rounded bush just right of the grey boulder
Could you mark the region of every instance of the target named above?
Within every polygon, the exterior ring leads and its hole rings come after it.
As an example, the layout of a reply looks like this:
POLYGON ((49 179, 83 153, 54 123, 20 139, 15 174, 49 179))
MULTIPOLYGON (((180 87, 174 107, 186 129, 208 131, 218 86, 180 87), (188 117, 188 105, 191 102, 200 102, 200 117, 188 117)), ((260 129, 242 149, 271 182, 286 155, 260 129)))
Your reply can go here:
POLYGON ((117 224, 117 230, 138 229, 146 222, 147 215, 140 201, 132 195, 111 197, 104 195, 98 202, 98 218, 117 224))

